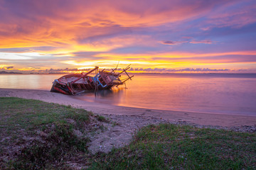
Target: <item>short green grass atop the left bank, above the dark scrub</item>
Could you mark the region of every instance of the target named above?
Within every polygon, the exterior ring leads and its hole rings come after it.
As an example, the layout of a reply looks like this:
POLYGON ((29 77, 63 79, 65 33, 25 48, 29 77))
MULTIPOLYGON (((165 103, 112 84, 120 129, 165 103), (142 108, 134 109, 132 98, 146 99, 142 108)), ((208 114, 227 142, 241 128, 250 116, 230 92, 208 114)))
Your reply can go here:
POLYGON ((87 122, 92 114, 83 109, 22 98, 0 98, 1 128, 35 128, 36 125, 65 122, 65 118, 87 122))

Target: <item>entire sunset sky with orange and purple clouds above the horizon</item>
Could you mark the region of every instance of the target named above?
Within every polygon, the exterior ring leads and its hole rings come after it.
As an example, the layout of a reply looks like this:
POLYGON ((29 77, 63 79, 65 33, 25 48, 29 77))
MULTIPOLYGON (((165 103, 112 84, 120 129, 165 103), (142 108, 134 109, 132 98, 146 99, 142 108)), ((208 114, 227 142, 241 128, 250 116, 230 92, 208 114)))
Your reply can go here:
POLYGON ((0 0, 0 16, 0 71, 256 73, 255 0, 0 0))

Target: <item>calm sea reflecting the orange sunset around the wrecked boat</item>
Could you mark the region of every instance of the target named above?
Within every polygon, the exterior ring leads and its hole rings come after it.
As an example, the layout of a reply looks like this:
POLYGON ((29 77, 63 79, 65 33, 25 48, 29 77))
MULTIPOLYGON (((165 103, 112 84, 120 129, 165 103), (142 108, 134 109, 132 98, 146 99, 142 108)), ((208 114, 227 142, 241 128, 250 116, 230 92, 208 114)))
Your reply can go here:
MULTIPOLYGON (((50 90, 62 74, 0 74, 0 88, 50 90)), ((136 74, 111 91, 73 96, 116 106, 256 115, 256 74, 136 74)))

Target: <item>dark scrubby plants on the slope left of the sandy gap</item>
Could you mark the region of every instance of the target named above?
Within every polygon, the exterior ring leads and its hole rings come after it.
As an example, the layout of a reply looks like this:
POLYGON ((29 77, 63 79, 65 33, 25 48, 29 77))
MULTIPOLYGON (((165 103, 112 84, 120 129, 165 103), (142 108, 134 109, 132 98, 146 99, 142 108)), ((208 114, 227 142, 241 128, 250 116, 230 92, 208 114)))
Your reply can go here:
POLYGON ((86 137, 78 138, 73 133, 70 125, 59 124, 45 139, 46 142, 33 141, 31 145, 21 150, 21 155, 16 159, 16 169, 37 169, 49 164, 64 164, 76 152, 87 153, 86 137))

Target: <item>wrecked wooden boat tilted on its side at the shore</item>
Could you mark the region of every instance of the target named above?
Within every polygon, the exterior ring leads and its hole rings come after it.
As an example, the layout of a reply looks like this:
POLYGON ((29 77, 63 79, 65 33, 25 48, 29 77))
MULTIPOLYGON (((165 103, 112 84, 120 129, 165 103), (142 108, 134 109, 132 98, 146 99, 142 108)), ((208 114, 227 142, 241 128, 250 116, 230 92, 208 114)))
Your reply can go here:
MULTIPOLYGON (((130 66, 130 65, 129 65, 130 66)), ((67 74, 59 79, 53 81, 53 86, 50 89, 51 92, 57 92, 61 94, 75 95, 85 91, 99 91, 105 89, 112 89, 114 86, 125 84, 127 80, 132 80, 127 70, 130 67, 122 69, 121 72, 117 72, 117 67, 111 71, 105 69, 99 70, 99 67, 91 69, 89 72, 82 74, 67 74), (95 72, 95 76, 89 76, 90 73, 95 72), (126 77, 121 79, 121 74, 125 73, 126 77)))

